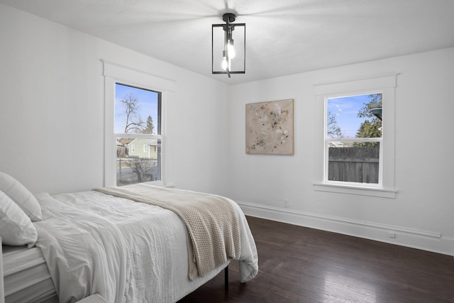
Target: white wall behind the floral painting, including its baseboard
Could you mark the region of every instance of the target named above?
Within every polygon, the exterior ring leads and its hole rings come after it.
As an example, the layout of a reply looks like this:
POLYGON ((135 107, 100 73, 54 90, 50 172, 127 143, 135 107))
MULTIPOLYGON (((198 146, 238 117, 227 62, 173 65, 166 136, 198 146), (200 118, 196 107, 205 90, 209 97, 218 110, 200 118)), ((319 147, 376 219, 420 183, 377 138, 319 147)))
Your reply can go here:
POLYGON ((265 81, 231 90, 232 197, 245 212, 278 221, 454 254, 454 49, 265 81), (314 84, 399 73, 396 199, 314 191, 314 84), (295 101, 295 153, 245 154, 245 104, 295 101), (283 207, 289 199, 289 208, 283 207), (395 231, 396 238, 388 232, 395 231), (441 238, 439 237, 441 235, 441 238))

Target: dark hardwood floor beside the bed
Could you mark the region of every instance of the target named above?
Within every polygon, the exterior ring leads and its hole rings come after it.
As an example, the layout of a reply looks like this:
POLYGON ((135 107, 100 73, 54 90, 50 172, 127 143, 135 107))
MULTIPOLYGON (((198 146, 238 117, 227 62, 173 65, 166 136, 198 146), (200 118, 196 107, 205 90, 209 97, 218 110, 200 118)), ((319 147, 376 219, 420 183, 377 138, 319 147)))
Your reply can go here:
POLYGON ((454 258, 248 216, 259 273, 240 284, 238 262, 179 303, 454 302, 454 258))

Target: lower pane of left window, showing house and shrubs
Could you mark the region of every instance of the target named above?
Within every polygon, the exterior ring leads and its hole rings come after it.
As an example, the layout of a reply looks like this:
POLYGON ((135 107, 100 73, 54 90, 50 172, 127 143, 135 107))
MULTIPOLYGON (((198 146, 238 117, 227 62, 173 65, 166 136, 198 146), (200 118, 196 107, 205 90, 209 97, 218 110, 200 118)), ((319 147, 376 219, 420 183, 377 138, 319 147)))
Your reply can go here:
POLYGON ((117 138, 117 186, 161 180, 161 141, 117 138), (144 145, 147 146, 145 152, 144 145), (131 147, 135 146, 133 150, 131 147))

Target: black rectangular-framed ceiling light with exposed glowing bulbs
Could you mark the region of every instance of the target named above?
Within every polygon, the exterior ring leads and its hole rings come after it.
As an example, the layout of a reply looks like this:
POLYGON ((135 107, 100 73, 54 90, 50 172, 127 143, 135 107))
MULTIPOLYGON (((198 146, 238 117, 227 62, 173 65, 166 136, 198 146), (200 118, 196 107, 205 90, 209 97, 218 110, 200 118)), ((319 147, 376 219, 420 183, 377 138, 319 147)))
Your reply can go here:
POLYGON ((246 65, 246 24, 235 22, 234 13, 224 13, 225 24, 211 26, 211 72, 244 74, 246 65), (235 39, 233 39, 235 33, 235 39))

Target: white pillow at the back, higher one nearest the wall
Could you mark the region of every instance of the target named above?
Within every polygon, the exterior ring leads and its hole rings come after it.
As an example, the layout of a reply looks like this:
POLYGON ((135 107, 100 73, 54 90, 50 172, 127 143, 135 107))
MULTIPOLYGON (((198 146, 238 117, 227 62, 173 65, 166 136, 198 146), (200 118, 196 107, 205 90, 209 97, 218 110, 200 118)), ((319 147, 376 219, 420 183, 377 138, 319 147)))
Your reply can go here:
POLYGON ((0 172, 0 190, 10 197, 30 217, 31 221, 42 221, 41 206, 25 186, 10 175, 0 172))

